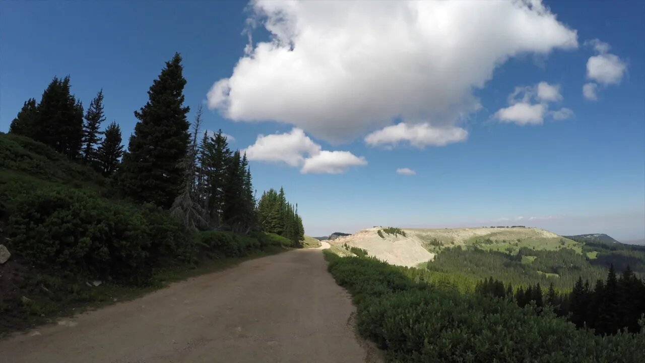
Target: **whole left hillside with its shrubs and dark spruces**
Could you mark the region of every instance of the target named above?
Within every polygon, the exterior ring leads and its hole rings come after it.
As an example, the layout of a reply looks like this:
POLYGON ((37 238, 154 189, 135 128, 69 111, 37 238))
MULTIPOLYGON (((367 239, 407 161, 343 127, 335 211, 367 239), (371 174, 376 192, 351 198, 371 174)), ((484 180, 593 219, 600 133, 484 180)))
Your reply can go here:
POLYGON ((71 85, 54 78, 0 134, 0 243, 10 252, 0 333, 181 271, 301 247, 284 190, 256 201, 246 155, 221 130, 201 130, 201 109, 188 121, 179 54, 134 112, 125 150, 118 123, 104 125, 103 90, 84 110, 71 85))

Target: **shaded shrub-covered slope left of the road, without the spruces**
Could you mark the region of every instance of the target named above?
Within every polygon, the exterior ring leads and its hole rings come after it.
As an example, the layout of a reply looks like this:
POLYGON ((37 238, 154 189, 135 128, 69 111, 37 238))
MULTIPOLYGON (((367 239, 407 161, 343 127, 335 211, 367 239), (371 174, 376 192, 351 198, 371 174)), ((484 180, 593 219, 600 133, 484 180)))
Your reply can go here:
POLYGON ((0 336, 141 295, 167 282, 284 251, 269 233, 187 233, 152 205, 29 138, 0 134, 0 336))

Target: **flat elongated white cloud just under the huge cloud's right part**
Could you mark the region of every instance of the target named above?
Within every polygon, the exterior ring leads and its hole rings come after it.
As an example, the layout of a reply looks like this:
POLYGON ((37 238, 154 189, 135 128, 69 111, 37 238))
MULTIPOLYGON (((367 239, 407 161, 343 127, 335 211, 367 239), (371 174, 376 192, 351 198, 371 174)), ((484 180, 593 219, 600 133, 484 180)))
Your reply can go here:
POLYGON ((365 136, 365 143, 370 146, 395 146, 401 141, 408 141, 414 147, 423 148, 427 145, 444 146, 464 141, 466 138, 468 138, 468 131, 461 127, 438 128, 432 127, 429 123, 408 125, 408 123, 401 122, 365 136))

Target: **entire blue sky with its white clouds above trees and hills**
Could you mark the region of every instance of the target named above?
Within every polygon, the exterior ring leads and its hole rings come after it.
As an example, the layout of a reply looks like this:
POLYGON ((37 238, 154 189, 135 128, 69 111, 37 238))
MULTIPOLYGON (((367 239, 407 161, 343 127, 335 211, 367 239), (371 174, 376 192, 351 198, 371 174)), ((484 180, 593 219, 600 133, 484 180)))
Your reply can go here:
POLYGON ((284 186, 308 234, 521 224, 644 238, 645 4, 422 3, 3 1, 0 131, 69 74, 84 105, 103 88, 127 139, 180 52, 186 104, 249 148, 258 194, 284 186))

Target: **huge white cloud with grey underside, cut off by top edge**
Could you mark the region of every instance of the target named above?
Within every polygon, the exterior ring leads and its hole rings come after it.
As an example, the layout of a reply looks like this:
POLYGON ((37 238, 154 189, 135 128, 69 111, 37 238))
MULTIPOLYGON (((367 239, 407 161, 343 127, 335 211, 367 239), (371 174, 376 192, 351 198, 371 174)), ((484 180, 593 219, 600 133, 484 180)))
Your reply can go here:
POLYGON ((472 92, 496 67, 577 47, 575 30, 539 0, 253 1, 250 9, 272 39, 246 48, 213 84, 209 107, 330 141, 394 119, 461 130, 461 140, 466 131, 455 125, 480 107, 472 92))

